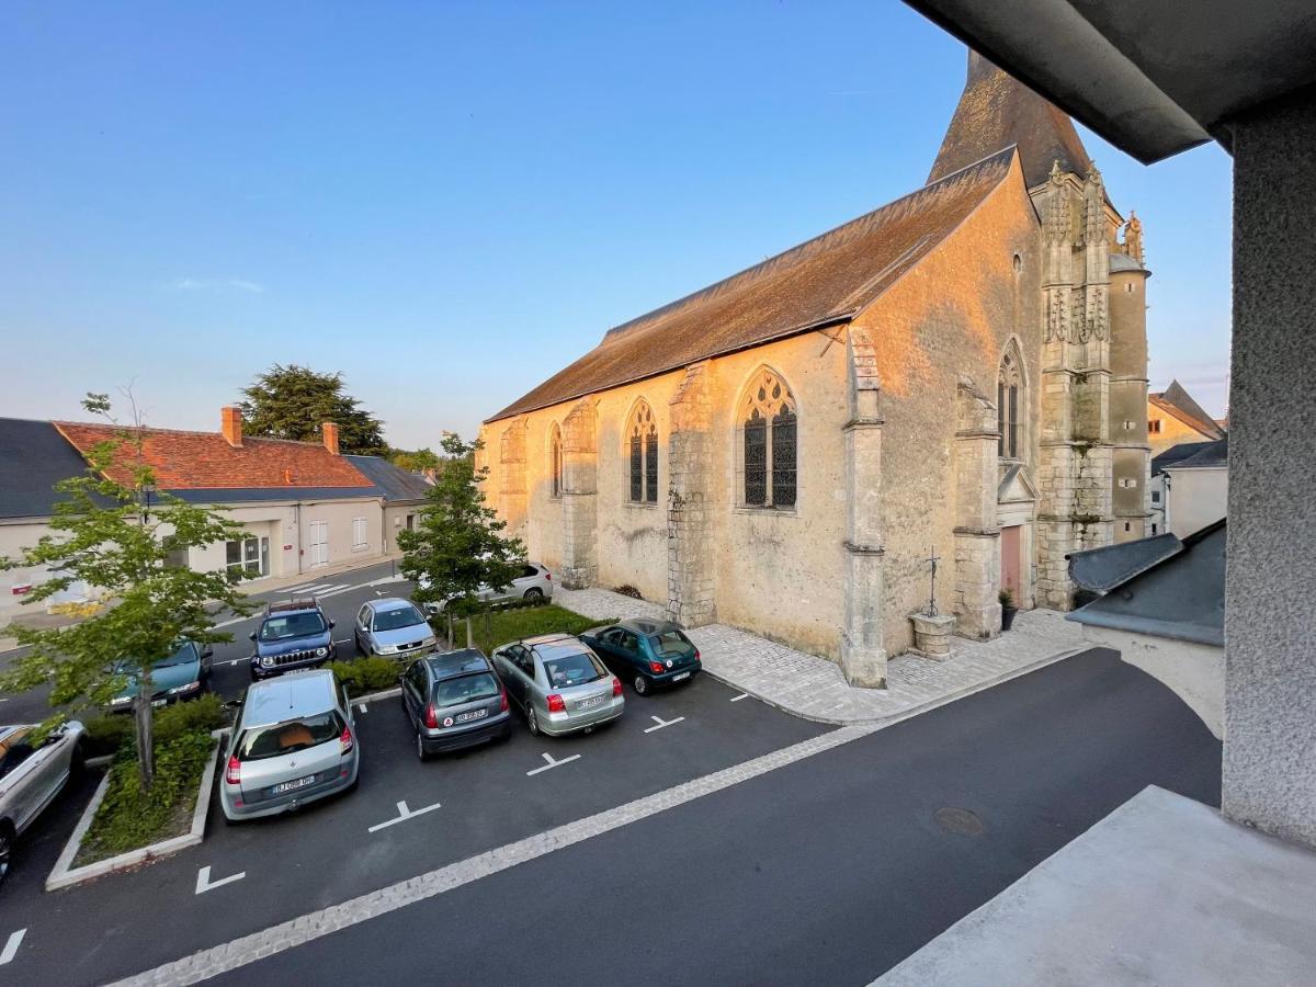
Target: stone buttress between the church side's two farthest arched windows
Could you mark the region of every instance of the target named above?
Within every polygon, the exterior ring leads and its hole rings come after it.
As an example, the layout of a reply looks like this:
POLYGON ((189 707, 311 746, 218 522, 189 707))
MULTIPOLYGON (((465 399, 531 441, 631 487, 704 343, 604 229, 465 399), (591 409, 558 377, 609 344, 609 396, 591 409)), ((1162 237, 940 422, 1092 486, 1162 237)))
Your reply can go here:
POLYGON ((562 422, 562 584, 584 590, 599 578, 599 442, 596 404, 586 397, 562 422))

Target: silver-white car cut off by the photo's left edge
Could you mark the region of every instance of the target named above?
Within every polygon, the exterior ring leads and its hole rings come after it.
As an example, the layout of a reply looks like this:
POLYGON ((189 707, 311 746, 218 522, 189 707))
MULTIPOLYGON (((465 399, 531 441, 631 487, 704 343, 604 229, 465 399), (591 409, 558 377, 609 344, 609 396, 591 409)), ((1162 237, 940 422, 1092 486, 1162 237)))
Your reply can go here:
POLYGON ((9 870, 14 841, 83 765, 80 722, 66 722, 36 746, 30 741, 34 729, 0 726, 0 880, 9 870))

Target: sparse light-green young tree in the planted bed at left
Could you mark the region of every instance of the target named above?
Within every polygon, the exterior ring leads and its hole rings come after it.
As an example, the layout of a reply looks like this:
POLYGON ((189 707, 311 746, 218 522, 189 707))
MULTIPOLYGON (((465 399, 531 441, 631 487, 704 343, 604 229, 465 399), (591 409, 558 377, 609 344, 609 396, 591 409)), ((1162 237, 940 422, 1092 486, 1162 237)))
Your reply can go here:
MULTIPOLYGON (((88 395, 83 407, 109 417, 108 395, 88 395)), ((172 654, 179 638, 203 645, 233 640, 212 628, 208 604, 237 613, 253 607, 237 591, 238 572, 167 565, 174 553, 240 538, 243 529, 211 509, 157 492, 142 457, 143 437, 134 405, 133 426, 88 454, 86 475, 55 484, 63 499, 55 504, 53 532, 17 558, 0 558, 0 569, 42 566, 50 574, 25 604, 75 583, 97 590, 108 601, 97 616, 68 628, 16 626, 18 644, 30 650, 0 676, 0 688, 24 692, 49 684, 53 707, 103 708, 136 680, 137 759, 145 791, 155 763, 151 666, 172 654)), ((63 717, 55 713, 42 728, 63 717)))

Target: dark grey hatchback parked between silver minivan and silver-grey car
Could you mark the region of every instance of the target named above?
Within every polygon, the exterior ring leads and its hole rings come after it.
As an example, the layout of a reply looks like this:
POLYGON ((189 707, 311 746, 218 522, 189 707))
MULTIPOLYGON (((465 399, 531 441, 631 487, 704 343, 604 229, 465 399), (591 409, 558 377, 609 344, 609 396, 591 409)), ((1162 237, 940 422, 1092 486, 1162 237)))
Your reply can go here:
POLYGON ((421 761, 512 733, 507 692, 478 647, 416 659, 401 676, 401 694, 421 761))

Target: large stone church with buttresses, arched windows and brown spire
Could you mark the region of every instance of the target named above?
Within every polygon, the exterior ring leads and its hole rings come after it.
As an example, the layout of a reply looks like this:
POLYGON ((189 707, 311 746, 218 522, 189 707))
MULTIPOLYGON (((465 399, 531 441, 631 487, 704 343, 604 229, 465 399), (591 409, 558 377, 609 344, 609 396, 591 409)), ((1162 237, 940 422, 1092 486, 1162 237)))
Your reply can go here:
POLYGON ((567 587, 633 586, 883 686, 1071 607, 1144 537, 1142 237, 1074 125, 978 55, 928 184, 608 330, 482 429, 487 495, 567 587))

